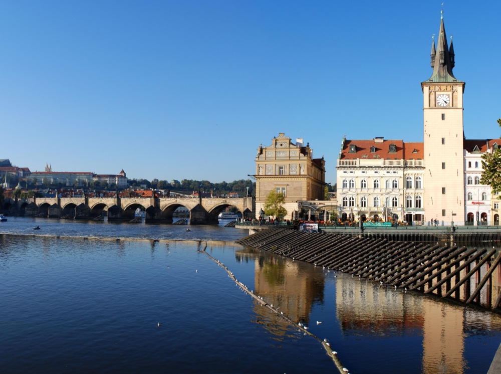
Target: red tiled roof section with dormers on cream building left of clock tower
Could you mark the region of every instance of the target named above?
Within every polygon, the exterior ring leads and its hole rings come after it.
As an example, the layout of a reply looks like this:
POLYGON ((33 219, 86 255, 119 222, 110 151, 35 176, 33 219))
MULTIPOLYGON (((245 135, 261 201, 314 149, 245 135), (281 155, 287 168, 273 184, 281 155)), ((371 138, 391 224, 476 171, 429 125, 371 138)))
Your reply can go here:
MULTIPOLYGON (((383 142, 376 142, 376 139, 371 140, 348 140, 344 142, 343 150, 341 153, 341 159, 355 159, 362 158, 364 154, 368 158, 374 158, 374 155, 379 156, 382 159, 401 159, 403 158, 403 140, 383 140, 383 142), (350 145, 354 144, 356 146, 355 153, 349 153, 350 145), (396 145, 396 152, 389 153, 390 144, 396 145), (376 147, 376 152, 371 152, 371 147, 376 147), (372 156, 372 157, 371 157, 372 156)), ((376 157, 377 158, 377 157, 376 157)))

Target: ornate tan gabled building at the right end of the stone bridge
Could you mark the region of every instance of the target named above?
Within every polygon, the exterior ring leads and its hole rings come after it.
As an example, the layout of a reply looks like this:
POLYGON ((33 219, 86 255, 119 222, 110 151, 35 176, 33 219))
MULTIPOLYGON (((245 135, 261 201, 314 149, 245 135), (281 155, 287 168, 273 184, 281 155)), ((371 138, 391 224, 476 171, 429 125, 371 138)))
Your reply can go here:
POLYGON ((254 176, 258 212, 264 209, 271 191, 285 195, 285 219, 292 219, 293 212, 298 210, 298 201, 324 199, 324 157, 313 158, 309 143, 305 146, 303 139, 293 142, 283 132, 272 139, 271 145, 259 146, 254 176))

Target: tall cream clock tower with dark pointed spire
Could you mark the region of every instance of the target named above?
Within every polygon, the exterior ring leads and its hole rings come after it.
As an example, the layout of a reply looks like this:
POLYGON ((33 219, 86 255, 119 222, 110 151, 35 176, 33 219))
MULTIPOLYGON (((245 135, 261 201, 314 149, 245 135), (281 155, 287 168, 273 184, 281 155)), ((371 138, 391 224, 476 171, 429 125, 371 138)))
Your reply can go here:
POLYGON ((431 45, 431 78, 421 82, 424 114, 425 220, 464 222, 463 92, 452 74, 454 49, 443 25, 431 45), (452 213, 454 216, 452 216, 452 213))

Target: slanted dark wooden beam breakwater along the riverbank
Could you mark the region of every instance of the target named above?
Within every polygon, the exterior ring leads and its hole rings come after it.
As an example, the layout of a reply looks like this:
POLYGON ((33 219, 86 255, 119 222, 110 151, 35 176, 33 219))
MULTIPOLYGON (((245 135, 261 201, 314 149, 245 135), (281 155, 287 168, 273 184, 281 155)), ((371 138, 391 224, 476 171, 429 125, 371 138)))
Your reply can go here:
POLYGON ((280 228, 261 231, 236 243, 371 279, 380 287, 433 293, 466 303, 479 303, 480 292, 486 287, 486 304, 493 309, 501 304, 501 290, 493 303, 490 299, 492 274, 496 269, 498 277, 501 274, 501 253, 494 258, 495 249, 487 251, 440 242, 423 244, 280 228), (483 277, 482 266, 486 269, 483 277))

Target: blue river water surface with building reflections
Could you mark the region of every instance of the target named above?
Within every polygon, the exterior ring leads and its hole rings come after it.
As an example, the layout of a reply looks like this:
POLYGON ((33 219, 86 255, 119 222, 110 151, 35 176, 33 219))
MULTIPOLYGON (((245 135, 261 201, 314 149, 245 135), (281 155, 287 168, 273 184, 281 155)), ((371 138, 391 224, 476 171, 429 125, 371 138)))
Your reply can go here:
POLYGON ((205 245, 249 289, 329 339, 351 373, 485 373, 501 342, 499 314, 242 247, 233 241, 247 231, 224 221, 8 219, 3 373, 337 372, 316 339, 236 287, 205 245))

